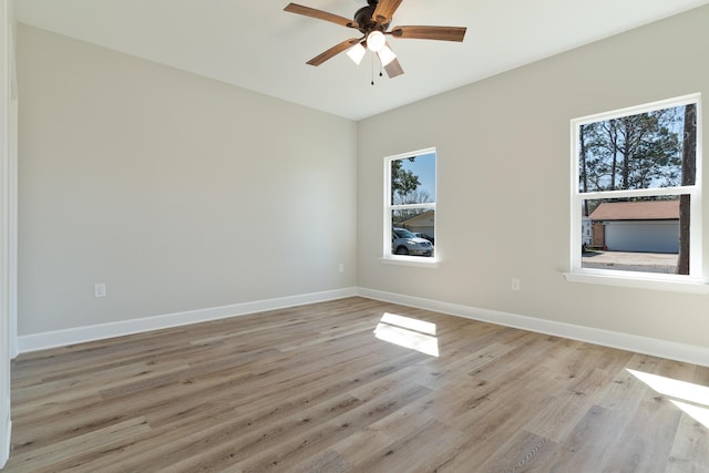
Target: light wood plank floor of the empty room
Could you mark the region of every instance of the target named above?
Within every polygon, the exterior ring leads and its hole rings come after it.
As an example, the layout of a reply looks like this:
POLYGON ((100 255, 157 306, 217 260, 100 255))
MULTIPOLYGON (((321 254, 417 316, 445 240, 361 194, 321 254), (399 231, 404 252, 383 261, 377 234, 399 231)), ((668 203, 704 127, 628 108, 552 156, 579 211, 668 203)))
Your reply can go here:
POLYGON ((708 385, 350 298, 20 356, 6 471, 709 472, 708 385))

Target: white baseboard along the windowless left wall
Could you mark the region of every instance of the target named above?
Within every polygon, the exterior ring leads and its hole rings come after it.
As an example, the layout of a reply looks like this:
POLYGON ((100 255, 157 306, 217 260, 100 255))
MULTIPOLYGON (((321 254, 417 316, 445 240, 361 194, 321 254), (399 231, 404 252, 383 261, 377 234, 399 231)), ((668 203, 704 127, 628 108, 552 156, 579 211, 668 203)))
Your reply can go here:
POLYGON ((165 313, 140 319, 122 320, 119 322, 76 327, 72 329, 20 336, 18 337, 17 347, 20 353, 25 353, 48 348, 82 343, 85 341, 122 337, 150 330, 160 330, 208 320, 264 312, 267 310, 323 302, 327 300, 342 299, 352 296, 357 296, 357 289, 345 288, 253 302, 234 304, 230 306, 212 307, 207 309, 188 310, 185 312, 165 313))

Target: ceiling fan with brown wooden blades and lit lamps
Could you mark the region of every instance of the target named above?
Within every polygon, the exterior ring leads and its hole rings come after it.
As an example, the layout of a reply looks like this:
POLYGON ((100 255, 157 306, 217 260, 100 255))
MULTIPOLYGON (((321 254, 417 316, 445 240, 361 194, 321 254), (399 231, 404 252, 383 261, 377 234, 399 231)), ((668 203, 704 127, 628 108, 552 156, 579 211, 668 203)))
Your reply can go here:
POLYGON ((369 50, 377 54, 387 75, 395 78, 403 74, 403 69, 397 60, 397 54, 389 47, 386 34, 393 38, 461 42, 466 30, 462 27, 394 27, 389 30, 391 19, 401 2, 402 0, 367 0, 368 6, 357 10, 353 20, 297 3, 288 3, 284 10, 359 30, 363 34, 333 45, 312 58, 307 62, 308 64, 320 65, 343 51, 347 51, 347 55, 359 64, 369 50))

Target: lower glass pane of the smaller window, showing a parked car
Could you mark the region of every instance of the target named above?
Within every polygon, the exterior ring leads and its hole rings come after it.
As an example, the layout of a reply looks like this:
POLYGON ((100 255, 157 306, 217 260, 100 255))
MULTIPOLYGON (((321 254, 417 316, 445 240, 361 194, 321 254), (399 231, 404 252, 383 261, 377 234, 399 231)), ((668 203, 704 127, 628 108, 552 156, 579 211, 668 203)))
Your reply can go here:
POLYGON ((433 256, 435 235, 433 208, 408 208, 391 212, 391 254, 433 256))

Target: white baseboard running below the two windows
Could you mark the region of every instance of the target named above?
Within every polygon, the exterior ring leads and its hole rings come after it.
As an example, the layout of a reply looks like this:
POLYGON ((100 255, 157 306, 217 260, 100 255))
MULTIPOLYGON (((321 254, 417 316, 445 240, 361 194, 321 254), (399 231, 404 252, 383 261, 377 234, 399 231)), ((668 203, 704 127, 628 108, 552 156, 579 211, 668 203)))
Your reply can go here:
POLYGON ((499 312, 495 310, 477 309, 469 306, 441 302, 438 300, 403 296, 373 289, 359 288, 357 294, 369 299, 400 304, 402 306, 432 310, 435 312, 464 317, 500 326, 513 327, 538 333, 600 345, 604 347, 618 348, 620 350, 709 367, 709 348, 707 347, 697 347, 649 337, 602 330, 592 327, 574 326, 554 320, 537 319, 534 317, 499 312))

